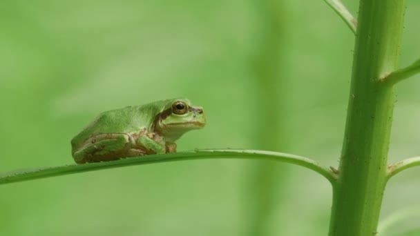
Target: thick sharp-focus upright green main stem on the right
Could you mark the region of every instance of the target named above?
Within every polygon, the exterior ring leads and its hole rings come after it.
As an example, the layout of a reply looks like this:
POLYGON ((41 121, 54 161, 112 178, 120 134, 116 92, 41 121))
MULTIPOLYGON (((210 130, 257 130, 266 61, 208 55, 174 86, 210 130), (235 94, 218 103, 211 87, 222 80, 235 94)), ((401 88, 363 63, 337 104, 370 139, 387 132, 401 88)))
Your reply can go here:
POLYGON ((405 0, 360 1, 330 235, 376 235, 395 99, 379 79, 397 67, 404 11, 405 0))

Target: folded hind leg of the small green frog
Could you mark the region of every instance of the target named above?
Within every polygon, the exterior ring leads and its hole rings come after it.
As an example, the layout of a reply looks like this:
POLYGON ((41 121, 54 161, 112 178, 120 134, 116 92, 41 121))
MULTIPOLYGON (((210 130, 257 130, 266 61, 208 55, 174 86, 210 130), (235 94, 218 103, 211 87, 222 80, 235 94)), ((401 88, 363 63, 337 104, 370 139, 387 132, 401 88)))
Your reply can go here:
POLYGON ((82 164, 142 155, 141 150, 135 153, 130 149, 132 141, 132 137, 125 133, 95 135, 86 140, 85 146, 73 153, 73 157, 76 163, 82 164))

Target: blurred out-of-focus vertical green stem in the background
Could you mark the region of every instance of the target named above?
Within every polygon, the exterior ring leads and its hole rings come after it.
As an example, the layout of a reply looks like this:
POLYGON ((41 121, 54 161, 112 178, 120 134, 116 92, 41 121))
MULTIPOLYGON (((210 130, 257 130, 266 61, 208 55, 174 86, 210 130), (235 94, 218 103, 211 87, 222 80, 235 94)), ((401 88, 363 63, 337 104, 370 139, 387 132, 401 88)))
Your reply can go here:
MULTIPOLYGON (((258 109, 260 122, 256 126, 254 135, 255 145, 263 150, 281 150, 280 146, 285 146, 285 140, 281 138, 280 132, 284 124, 279 110, 282 109, 285 99, 284 86, 280 86, 281 49, 283 47, 283 35, 285 12, 278 0, 258 0, 255 1, 255 8, 259 12, 262 21, 261 28, 256 37, 258 50, 251 58, 251 66, 256 78, 256 87, 253 88, 251 95, 256 95, 256 108, 258 109)), ((283 149, 284 150, 284 149, 283 149)), ((249 228, 247 235, 269 235, 269 219, 282 202, 284 194, 281 186, 284 184, 284 176, 288 171, 284 166, 273 165, 267 161, 253 163, 251 169, 251 179, 247 181, 247 186, 251 186, 247 196, 251 204, 248 205, 251 217, 249 218, 249 228)))

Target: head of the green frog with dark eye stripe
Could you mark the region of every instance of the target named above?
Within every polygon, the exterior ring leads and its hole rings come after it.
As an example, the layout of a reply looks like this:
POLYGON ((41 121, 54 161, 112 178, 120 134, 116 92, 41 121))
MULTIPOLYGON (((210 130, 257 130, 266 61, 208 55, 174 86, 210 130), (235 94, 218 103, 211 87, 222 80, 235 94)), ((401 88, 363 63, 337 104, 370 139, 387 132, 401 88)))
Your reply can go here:
POLYGON ((153 122, 155 132, 166 141, 173 142, 185 132, 203 128, 206 124, 204 111, 200 106, 193 106, 188 99, 166 100, 162 112, 153 122))

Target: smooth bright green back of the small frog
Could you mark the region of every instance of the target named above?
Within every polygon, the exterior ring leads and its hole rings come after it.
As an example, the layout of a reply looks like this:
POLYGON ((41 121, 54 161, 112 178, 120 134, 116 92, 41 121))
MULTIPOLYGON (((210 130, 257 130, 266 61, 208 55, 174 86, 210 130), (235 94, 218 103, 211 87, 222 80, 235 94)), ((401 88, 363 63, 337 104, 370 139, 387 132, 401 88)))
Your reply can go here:
POLYGON ((154 104, 128 106, 102 112, 82 132, 76 135, 71 143, 78 146, 86 139, 103 133, 135 132, 149 128, 160 108, 154 104))

